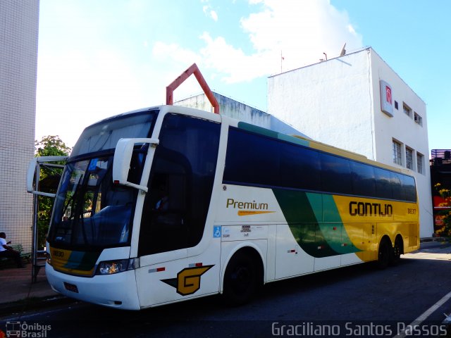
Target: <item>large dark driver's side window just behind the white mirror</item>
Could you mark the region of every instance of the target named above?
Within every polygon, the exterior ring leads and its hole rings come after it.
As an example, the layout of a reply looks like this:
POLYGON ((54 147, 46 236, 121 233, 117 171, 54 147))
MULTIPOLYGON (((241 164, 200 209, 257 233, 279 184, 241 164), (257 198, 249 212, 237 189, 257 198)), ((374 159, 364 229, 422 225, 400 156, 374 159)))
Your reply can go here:
POLYGON ((202 239, 220 127, 184 115, 164 118, 144 200, 140 256, 187 248, 202 239))

